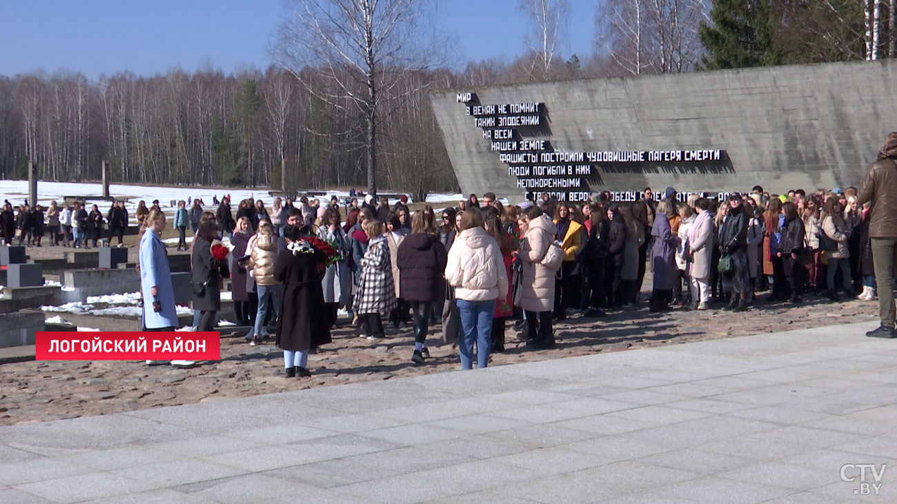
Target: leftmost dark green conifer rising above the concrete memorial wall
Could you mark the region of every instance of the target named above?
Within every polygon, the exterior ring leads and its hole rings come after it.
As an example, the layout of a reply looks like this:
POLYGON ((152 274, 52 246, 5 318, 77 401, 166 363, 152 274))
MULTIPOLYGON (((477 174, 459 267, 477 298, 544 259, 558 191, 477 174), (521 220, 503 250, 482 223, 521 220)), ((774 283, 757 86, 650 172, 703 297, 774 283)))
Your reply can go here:
POLYGON ((777 23, 770 0, 714 0, 713 26, 701 22, 707 69, 779 65, 777 23))

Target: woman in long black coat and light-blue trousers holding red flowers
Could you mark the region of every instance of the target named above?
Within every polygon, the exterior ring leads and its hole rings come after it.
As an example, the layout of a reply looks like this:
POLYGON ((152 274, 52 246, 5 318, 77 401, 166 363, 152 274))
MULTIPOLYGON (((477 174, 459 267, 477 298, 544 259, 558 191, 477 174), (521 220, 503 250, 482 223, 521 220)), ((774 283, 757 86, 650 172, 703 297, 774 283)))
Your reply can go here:
POLYGON ((330 343, 330 317, 324 309, 324 260, 295 226, 283 228, 287 246, 274 264, 274 280, 283 283, 281 317, 277 319, 277 347, 283 349, 283 368, 287 378, 310 377, 309 351, 330 343))

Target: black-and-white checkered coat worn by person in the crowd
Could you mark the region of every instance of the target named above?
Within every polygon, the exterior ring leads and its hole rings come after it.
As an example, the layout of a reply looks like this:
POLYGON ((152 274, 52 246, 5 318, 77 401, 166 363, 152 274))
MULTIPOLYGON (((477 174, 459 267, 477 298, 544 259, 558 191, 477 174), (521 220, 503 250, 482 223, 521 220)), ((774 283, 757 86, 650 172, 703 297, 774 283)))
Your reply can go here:
POLYGON ((355 294, 355 311, 386 315, 397 308, 396 284, 393 282, 392 262, 385 237, 370 240, 368 251, 361 260, 361 277, 355 294))

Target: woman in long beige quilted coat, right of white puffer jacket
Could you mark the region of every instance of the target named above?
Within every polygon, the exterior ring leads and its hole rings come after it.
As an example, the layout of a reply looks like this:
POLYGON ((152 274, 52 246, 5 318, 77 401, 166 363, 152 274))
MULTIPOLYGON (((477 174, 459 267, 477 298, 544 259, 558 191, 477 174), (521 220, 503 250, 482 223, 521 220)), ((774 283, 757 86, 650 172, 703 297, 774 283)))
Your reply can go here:
POLYGON ((523 282, 520 308, 527 317, 527 330, 532 339, 527 346, 537 350, 553 348, 552 311, 554 308, 555 273, 539 264, 554 241, 557 227, 537 206, 527 208, 518 217, 523 242, 515 253, 522 265, 523 282))

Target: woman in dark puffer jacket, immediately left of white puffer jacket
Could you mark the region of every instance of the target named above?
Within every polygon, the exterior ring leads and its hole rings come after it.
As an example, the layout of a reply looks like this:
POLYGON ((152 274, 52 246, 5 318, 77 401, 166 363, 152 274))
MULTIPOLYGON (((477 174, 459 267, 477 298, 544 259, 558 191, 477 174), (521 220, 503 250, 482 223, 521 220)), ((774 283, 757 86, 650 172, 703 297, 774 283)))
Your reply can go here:
POLYGON ((396 263, 400 276, 399 297, 411 302, 414 314, 414 353, 411 361, 422 364, 424 357, 430 357, 426 340, 433 301, 445 295, 442 274, 446 271, 448 252, 440 239, 429 232, 422 212, 415 212, 411 218, 411 232, 398 246, 396 263))

